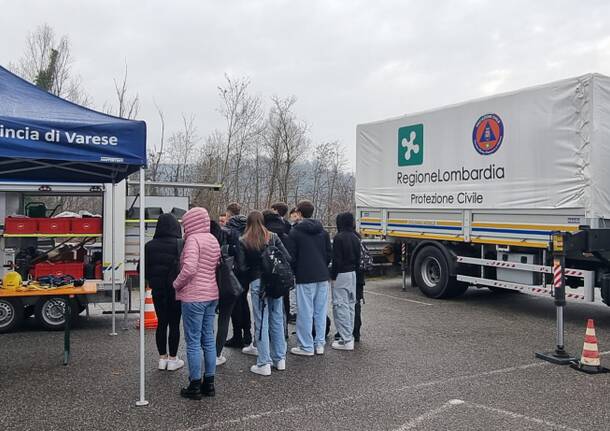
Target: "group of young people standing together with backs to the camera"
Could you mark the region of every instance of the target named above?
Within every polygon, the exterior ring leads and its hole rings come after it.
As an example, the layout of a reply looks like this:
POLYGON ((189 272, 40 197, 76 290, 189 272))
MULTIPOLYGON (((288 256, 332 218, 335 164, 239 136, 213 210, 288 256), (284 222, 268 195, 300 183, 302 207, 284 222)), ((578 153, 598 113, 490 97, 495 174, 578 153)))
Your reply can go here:
POLYGON ((331 346, 354 349, 354 342, 360 339, 364 286, 354 216, 337 216, 337 234, 331 244, 322 223, 312 218, 314 210, 309 201, 299 202, 290 212, 285 204, 277 203, 245 217, 233 203, 217 223, 206 209, 196 207, 182 217, 184 236, 173 215, 159 217, 154 238, 145 248, 146 279, 158 318, 156 344, 161 370, 184 366, 177 356, 181 318, 183 321, 189 368, 189 385, 181 389, 183 397, 215 395, 216 366, 227 360, 222 355, 224 347, 255 355, 256 364, 250 368, 255 374, 269 376, 272 368, 285 370, 287 323, 292 319, 296 320, 297 346, 290 353, 323 355, 330 328, 327 304, 331 280, 337 329, 331 346), (281 260, 290 263, 294 274, 296 288, 283 297, 265 293, 268 248, 281 253, 281 260), (242 294, 231 300, 219 295, 221 255, 233 257, 233 271, 243 288, 242 294), (227 341, 229 321, 233 337, 227 341))

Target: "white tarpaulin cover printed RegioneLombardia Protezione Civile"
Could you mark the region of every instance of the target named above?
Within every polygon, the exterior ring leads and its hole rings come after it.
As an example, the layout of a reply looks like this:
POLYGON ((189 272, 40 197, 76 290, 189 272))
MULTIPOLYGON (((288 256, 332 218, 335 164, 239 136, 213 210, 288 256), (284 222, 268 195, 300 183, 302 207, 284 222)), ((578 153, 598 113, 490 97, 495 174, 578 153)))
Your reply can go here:
POLYGON ((581 208, 610 218, 610 78, 585 75, 357 128, 368 208, 581 208))

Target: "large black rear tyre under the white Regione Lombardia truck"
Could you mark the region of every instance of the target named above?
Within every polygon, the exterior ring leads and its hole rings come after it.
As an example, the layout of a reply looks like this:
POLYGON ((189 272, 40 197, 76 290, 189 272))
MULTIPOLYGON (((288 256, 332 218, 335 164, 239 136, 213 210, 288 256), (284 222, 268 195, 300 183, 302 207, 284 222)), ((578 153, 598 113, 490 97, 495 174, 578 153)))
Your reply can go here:
POLYGON ((432 245, 424 247, 415 256, 413 277, 419 290, 430 298, 455 298, 468 289, 467 284, 449 275, 445 254, 432 245))

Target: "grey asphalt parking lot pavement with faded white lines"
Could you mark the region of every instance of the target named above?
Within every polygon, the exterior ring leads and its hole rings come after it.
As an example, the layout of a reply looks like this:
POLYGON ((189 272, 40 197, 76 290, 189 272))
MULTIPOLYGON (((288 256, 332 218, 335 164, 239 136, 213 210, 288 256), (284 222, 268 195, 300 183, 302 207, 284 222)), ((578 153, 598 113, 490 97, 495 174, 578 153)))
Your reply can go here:
MULTIPOLYGON (((138 399, 138 332, 111 337, 93 314, 75 325, 72 361, 61 332, 35 322, 0 335, 0 429, 6 430, 607 430, 610 374, 587 375, 535 359, 555 340, 550 298, 471 288, 431 300, 400 280, 367 283, 354 352, 289 355, 261 377, 252 357, 226 349, 215 398, 184 400, 186 369, 156 370, 147 332, 146 398, 138 399)), ((580 355, 587 318, 610 351, 610 309, 568 304, 566 347, 580 355)), ((290 327, 291 331, 294 327, 290 327)), ((291 336, 289 346, 295 345, 291 336)), ((184 357, 184 345, 180 355, 184 357)), ((602 364, 610 366, 610 352, 602 364)))

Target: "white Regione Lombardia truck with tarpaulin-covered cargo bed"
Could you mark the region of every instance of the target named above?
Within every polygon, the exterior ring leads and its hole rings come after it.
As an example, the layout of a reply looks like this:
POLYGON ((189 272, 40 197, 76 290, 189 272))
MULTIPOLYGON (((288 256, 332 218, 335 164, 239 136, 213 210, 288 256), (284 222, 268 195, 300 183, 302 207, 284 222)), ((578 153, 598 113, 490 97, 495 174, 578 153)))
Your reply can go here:
MULTIPOLYGON (((587 74, 357 126, 357 228, 432 298, 469 287, 610 304, 610 78, 587 74)), ((403 286, 405 285, 403 276, 403 286)))

